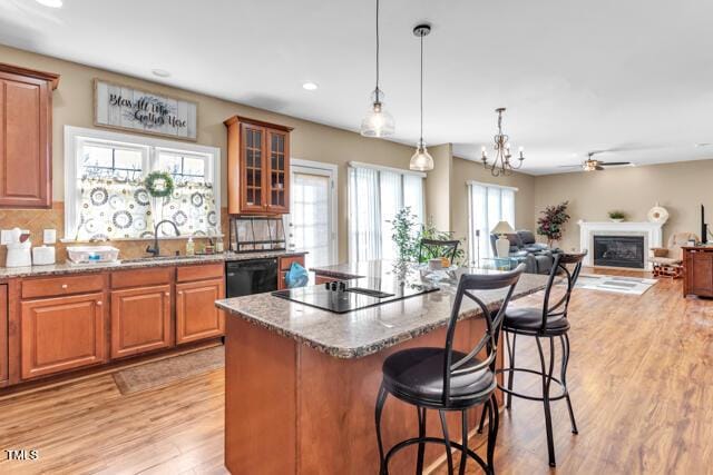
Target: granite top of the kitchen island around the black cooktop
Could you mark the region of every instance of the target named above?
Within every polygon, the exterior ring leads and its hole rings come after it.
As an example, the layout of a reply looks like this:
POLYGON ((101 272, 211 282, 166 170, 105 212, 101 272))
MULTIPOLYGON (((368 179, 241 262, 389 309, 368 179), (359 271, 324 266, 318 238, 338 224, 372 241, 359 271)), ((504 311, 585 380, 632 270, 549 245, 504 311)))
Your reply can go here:
MULTIPOLYGON (((316 274, 351 279, 397 278, 392 261, 369 261, 311 269, 316 274)), ((460 269, 460 273, 497 273, 497 270, 460 269)), ((420 281, 414 267, 406 277, 420 281)), ((524 297, 545 288, 547 276, 524 274, 515 289, 514 298, 524 297)), ((338 358, 360 358, 401 342, 432 331, 448 323, 457 284, 441 281, 441 289, 409 297, 377 307, 362 308, 346 314, 333 314, 303 304, 257 294, 216 301, 232 315, 267 328, 279 335, 293 338, 304 345, 338 358)), ((505 290, 481 291, 486 304, 495 305, 505 290)), ((466 300, 460 318, 479 314, 475 304, 466 300)))

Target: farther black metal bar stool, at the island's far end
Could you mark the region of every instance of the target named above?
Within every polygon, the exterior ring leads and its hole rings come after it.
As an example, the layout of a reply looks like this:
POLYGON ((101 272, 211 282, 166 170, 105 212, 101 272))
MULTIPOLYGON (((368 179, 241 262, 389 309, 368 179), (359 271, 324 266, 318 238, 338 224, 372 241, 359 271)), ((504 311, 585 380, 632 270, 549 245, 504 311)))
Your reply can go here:
MULTIPOLYGON (((575 287, 579 271, 582 270, 582 261, 587 255, 587 251, 580 254, 556 254, 553 269, 547 280, 547 287, 545 289, 545 300, 541 308, 508 308, 502 323, 502 333, 505 334, 506 347, 508 350, 508 366, 498 369, 496 374, 507 373, 508 382, 507 387, 502 387, 498 384, 498 388, 506 393, 506 408, 510 408, 512 396, 520 397, 528 400, 538 400, 543 403, 545 408, 545 428, 547 432, 547 452, 549 455, 549 465, 556 466, 555 461, 555 444, 553 437, 553 420, 549 403, 553 400, 565 399, 567 402, 567 408, 569 410, 569 420, 572 423, 572 433, 577 434, 577 423, 575 422, 575 414, 572 410, 572 400, 569 398, 569 389, 567 388, 567 365, 569 363, 569 337, 567 331, 569 330, 569 321, 567 320, 567 308, 569 306, 569 298, 572 297, 572 290, 575 287), (572 269, 567 268, 567 265, 572 266, 572 269), (556 280, 560 278, 566 284, 564 295, 555 304, 550 304, 550 295, 553 287, 555 287, 556 280), (565 280, 566 279, 566 280, 565 280), (512 335, 512 345, 510 346, 510 335, 512 335), (537 343, 537 350, 539 353, 540 370, 530 368, 519 368, 515 366, 515 344, 518 335, 535 337, 537 343), (549 340, 549 365, 545 363, 545 353, 543 350, 543 344, 540 338, 547 338, 549 340), (555 338, 559 338, 561 344, 561 367, 559 378, 553 376, 555 369, 555 338), (512 382, 515 380, 516 373, 529 373, 541 377, 543 379, 543 395, 533 396, 520 394, 512 390, 512 382), (550 395, 551 383, 557 384, 561 393, 555 396, 550 395)), ((478 432, 482 432, 482 417, 478 432)))

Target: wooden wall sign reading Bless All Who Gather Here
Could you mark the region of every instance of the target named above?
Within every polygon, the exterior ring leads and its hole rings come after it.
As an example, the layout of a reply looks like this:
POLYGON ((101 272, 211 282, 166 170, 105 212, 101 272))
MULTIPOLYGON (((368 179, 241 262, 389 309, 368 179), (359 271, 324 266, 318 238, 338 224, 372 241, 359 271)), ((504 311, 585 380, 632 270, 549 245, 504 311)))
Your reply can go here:
POLYGON ((94 125, 196 140, 198 105, 94 80, 94 125))

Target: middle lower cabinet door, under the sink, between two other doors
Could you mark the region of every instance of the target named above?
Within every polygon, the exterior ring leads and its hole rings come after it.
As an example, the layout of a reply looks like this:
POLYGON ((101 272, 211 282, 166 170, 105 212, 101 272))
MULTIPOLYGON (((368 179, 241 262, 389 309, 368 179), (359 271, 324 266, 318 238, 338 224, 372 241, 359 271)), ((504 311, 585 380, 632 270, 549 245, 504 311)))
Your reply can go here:
POLYGON ((113 358, 172 345, 170 286, 111 291, 113 358))

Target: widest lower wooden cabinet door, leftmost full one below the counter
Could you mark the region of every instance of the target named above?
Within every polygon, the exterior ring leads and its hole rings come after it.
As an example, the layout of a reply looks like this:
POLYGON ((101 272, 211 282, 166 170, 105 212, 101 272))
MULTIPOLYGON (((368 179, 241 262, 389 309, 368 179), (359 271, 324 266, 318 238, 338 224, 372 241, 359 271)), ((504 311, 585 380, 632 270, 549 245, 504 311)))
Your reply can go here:
POLYGON ((102 296, 87 294, 21 303, 22 379, 106 360, 102 296))

